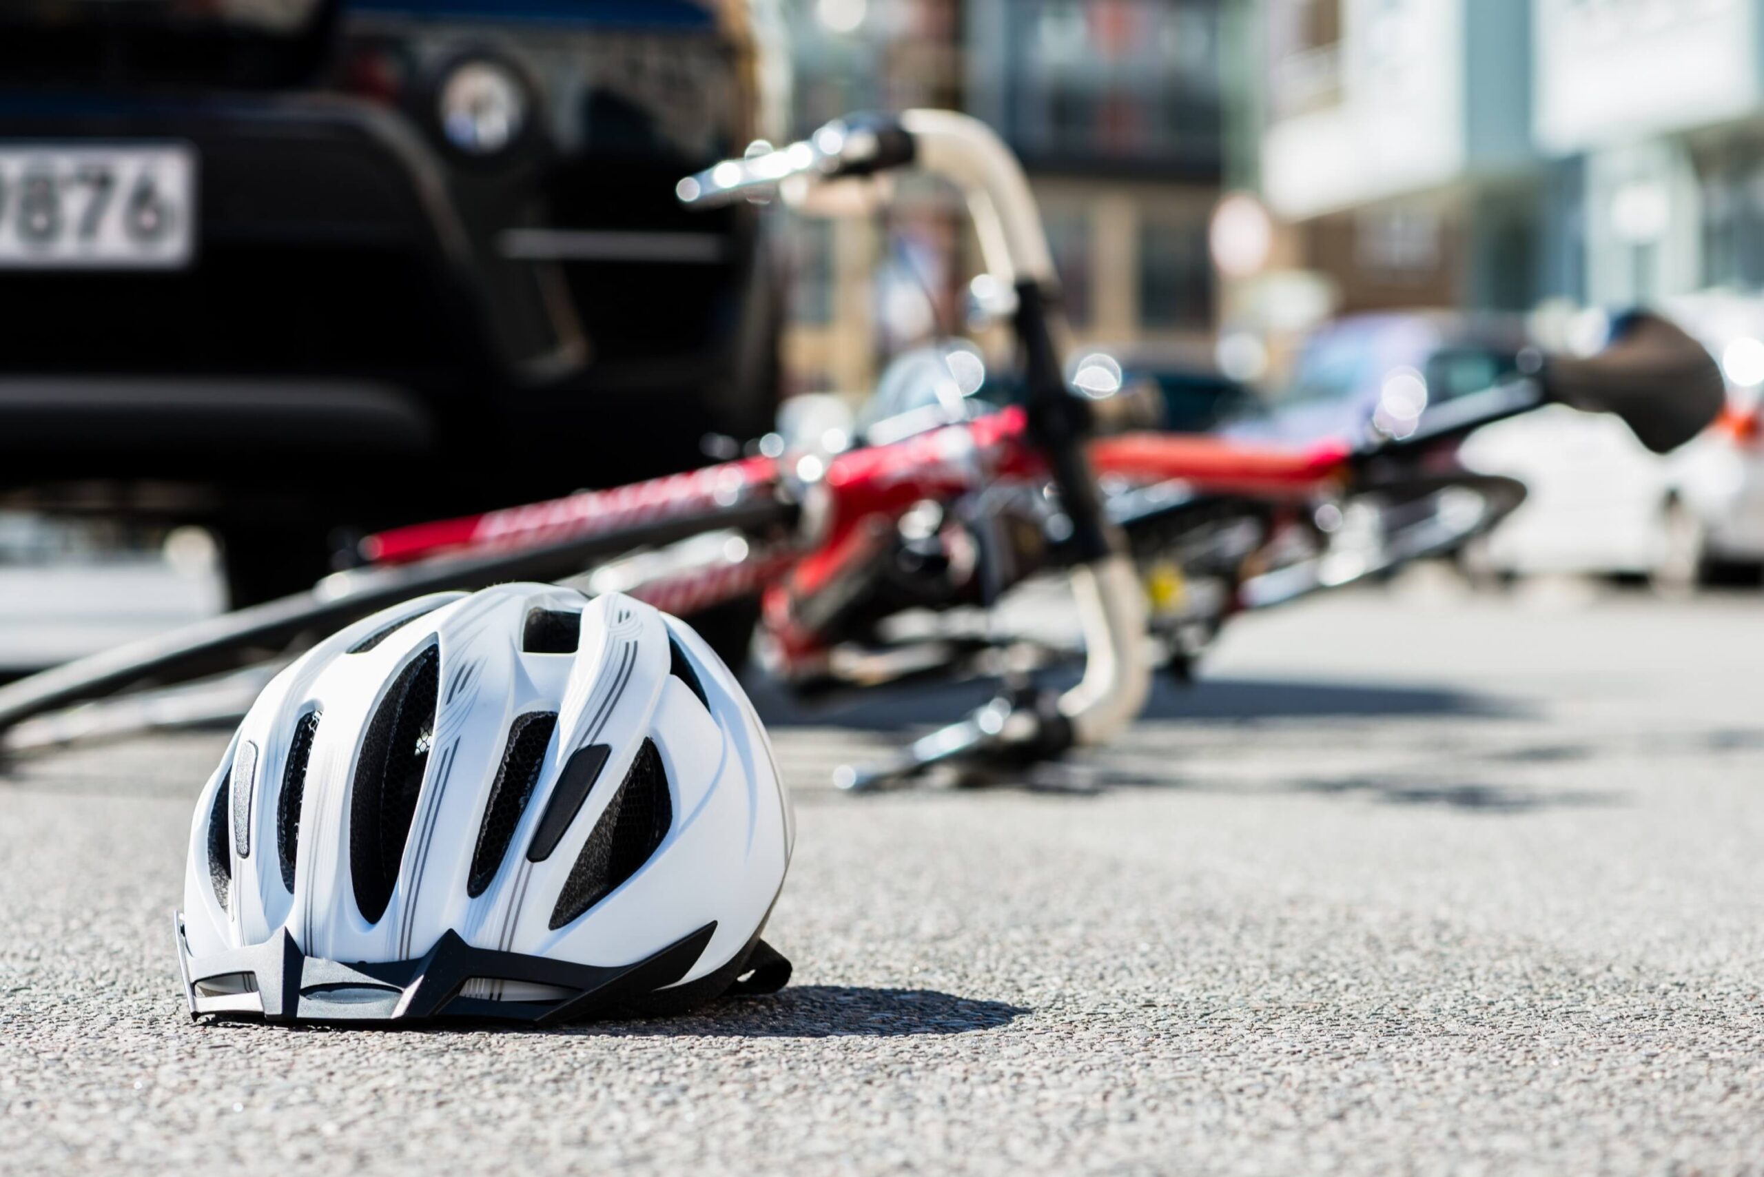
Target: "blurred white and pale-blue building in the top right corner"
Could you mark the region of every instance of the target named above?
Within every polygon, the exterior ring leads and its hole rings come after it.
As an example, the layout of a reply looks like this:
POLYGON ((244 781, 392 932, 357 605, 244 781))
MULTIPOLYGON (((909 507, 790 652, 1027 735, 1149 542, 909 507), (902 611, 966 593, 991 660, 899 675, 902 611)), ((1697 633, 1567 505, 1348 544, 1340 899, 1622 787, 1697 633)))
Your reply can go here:
POLYGON ((1535 0, 1551 286, 1764 289, 1764 2, 1535 0))

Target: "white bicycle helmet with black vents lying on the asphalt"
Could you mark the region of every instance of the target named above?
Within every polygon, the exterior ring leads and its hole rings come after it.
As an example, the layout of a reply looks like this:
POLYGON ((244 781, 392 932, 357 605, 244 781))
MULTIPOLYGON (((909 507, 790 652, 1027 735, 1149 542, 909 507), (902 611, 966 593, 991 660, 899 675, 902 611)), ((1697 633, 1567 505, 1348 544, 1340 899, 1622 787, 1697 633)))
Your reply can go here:
POLYGON ((282 671, 196 805, 192 1015, 536 1023, 776 992, 796 840, 690 626, 617 593, 441 593, 282 671))

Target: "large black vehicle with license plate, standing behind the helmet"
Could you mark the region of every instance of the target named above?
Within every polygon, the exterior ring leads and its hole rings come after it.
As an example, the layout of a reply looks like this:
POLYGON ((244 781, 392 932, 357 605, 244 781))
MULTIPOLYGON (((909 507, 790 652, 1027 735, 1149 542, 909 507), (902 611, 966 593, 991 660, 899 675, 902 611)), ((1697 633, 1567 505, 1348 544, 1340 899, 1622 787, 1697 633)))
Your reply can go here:
POLYGON ((764 0, 0 0, 0 496, 335 536, 702 464, 776 408, 764 0))

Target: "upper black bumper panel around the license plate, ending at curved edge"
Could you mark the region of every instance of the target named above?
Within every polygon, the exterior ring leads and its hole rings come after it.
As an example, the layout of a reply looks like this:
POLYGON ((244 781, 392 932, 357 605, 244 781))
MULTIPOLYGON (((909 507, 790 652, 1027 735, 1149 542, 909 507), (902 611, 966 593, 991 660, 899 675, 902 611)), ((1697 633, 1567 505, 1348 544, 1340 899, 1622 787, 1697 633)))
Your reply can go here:
POLYGON ((196 244, 164 272, 0 268, 11 372, 399 372, 501 365, 467 228, 399 116, 326 95, 0 94, 0 139, 176 141, 196 244))

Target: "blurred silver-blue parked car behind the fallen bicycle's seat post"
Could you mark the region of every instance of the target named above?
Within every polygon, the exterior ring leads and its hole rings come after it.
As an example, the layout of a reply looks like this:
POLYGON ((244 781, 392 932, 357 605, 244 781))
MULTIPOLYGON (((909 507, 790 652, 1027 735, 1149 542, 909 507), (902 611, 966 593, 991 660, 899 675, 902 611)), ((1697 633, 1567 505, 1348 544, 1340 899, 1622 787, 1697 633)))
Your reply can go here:
POLYGON ((1512 379, 1526 335, 1517 319, 1446 311, 1355 314, 1318 328, 1267 408, 1228 422, 1238 438, 1362 441, 1402 436, 1429 406, 1512 379), (1394 420, 1381 415, 1395 413, 1394 420))

